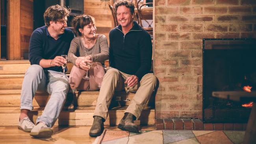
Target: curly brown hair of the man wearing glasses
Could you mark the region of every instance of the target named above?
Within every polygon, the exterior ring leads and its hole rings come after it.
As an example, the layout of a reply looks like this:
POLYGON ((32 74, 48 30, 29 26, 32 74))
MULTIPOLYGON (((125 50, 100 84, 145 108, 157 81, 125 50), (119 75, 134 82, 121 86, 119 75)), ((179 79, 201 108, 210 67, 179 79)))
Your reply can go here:
POLYGON ((45 13, 44 13, 45 25, 50 26, 50 21, 57 22, 58 20, 69 16, 69 13, 70 13, 70 9, 59 6, 58 4, 54 6, 50 6, 45 10, 45 13))

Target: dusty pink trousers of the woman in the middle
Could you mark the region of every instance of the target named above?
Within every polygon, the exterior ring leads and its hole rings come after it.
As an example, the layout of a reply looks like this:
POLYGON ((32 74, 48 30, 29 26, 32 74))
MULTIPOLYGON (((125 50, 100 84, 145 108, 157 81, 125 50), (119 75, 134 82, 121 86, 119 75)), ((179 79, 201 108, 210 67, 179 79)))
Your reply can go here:
POLYGON ((95 62, 94 66, 88 71, 90 79, 83 79, 86 70, 73 66, 69 76, 69 85, 72 89, 78 90, 99 90, 105 71, 101 63, 95 62))

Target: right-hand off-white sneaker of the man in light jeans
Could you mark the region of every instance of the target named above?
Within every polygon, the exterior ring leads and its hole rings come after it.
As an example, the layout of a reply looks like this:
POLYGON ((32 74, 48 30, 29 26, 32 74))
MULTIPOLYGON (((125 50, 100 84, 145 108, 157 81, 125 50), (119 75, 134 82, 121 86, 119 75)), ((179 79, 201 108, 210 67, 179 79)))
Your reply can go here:
POLYGON ((30 132, 30 135, 37 138, 51 137, 53 131, 44 122, 39 122, 30 132))

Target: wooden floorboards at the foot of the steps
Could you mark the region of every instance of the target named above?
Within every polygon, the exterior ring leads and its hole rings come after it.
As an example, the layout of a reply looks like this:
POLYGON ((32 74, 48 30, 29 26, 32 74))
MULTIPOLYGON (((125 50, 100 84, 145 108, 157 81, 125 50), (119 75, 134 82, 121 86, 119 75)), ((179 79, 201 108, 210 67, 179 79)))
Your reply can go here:
MULTIPOLYGON (((52 127, 51 138, 33 138, 17 126, 0 126, 1 144, 92 144, 95 137, 89 136, 91 126, 52 127)), ((120 130, 117 126, 107 126, 106 129, 120 130)), ((154 126, 141 126, 141 130, 154 130, 154 126)))

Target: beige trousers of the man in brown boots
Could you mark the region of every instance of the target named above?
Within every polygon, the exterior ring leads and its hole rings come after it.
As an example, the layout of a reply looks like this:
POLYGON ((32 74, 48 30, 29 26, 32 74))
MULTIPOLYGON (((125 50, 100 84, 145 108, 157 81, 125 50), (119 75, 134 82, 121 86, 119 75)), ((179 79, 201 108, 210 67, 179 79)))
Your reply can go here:
MULTIPOLYGON (((131 75, 125 74, 115 68, 107 68, 93 116, 101 116, 106 120, 108 116, 108 107, 111 103, 114 92, 124 90, 124 79, 129 76, 131 75)), ((137 85, 130 87, 129 92, 136 93, 125 113, 132 113, 137 119, 139 118, 156 87, 156 81, 157 79, 154 74, 149 73, 145 74, 137 85)))

